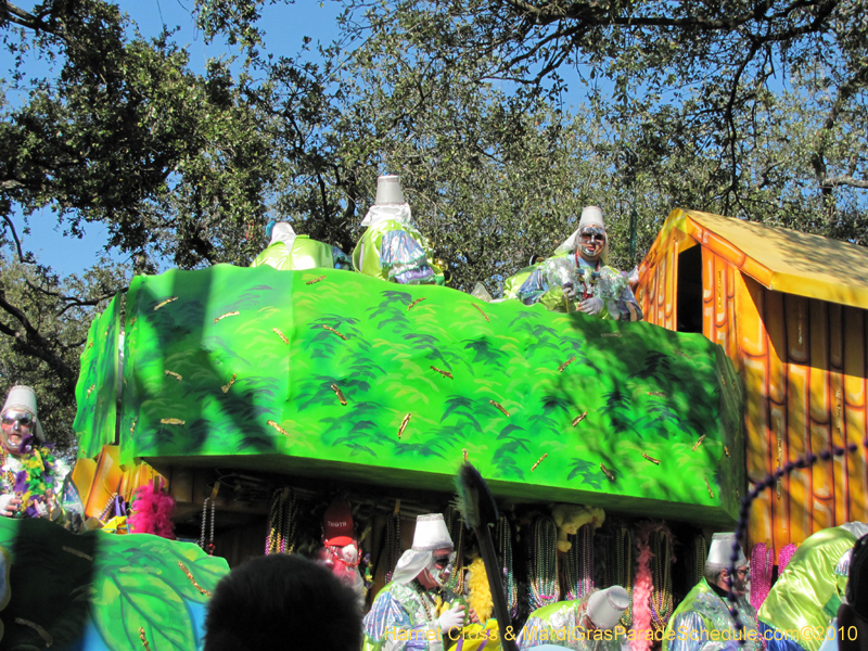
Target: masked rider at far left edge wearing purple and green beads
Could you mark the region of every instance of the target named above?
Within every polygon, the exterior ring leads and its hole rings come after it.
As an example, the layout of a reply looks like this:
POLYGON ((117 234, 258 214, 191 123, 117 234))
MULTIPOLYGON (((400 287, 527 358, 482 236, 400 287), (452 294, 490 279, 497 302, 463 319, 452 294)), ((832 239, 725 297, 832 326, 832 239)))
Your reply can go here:
POLYGON ((63 477, 54 455, 43 445, 36 392, 29 386, 13 386, 0 418, 0 515, 58 520, 63 512, 58 498, 63 477))

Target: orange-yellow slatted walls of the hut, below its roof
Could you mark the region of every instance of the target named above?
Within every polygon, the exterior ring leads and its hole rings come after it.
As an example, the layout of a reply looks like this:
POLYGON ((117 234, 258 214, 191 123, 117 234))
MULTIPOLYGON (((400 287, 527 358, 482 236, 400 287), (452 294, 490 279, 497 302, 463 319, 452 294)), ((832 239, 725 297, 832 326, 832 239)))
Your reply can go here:
POLYGON ((702 246, 703 334, 723 346, 746 388, 749 478, 808 452, 859 444, 857 454, 795 470, 763 495, 752 510, 751 544, 768 541, 777 553, 820 528, 868 521, 866 310, 765 289, 742 273, 749 260, 737 250, 688 219, 686 232, 655 244, 642 269, 637 297, 651 323, 676 328, 678 253, 689 235, 702 246))

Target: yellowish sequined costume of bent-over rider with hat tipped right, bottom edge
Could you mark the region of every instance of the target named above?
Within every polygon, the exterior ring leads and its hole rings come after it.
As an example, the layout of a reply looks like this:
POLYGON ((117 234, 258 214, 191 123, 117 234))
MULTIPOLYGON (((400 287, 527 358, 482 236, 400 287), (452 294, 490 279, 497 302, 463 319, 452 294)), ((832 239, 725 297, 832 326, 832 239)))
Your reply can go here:
POLYGON ((558 601, 535 610, 519 634, 519 651, 557 644, 574 651, 617 651, 626 631, 586 629, 580 625, 588 598, 558 601))

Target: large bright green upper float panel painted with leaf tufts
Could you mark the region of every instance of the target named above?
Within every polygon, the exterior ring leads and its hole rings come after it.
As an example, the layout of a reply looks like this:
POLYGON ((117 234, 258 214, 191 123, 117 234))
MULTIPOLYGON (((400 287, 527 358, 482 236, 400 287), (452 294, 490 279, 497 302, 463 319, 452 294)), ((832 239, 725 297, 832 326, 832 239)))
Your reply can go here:
POLYGON ((227 265, 136 278, 126 319, 122 461, 451 493, 467 454, 500 498, 720 526, 744 490, 742 390, 698 334, 227 265))

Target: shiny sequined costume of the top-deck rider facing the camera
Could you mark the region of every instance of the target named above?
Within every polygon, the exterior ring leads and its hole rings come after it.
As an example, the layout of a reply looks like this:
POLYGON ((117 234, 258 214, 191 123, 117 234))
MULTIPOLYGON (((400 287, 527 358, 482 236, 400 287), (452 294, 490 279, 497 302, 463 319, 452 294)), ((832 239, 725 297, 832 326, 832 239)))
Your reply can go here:
MULTIPOLYGON (((603 299, 601 319, 639 321, 642 310, 630 290, 627 276, 608 265, 591 266, 575 253, 556 255, 537 265, 522 284, 514 289, 513 278, 507 279, 508 296, 519 298, 525 305, 540 303, 553 311, 577 311, 584 298, 603 299), (576 301, 567 302, 563 285, 572 283, 576 301)), ((523 269, 520 273, 526 273, 523 269)), ((518 276, 518 275, 516 275, 518 276)))

